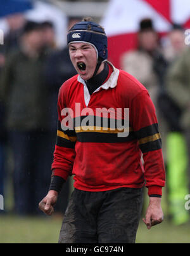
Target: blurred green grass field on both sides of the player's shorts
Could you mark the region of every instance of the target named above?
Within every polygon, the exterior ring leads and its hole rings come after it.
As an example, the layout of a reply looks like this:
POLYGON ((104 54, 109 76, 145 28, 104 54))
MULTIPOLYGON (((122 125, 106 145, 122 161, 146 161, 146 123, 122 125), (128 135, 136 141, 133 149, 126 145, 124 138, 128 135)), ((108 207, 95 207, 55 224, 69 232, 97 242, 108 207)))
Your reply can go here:
MULTIPOLYGON (((0 215, 0 243, 57 243, 61 222, 54 217, 0 215)), ((165 220, 148 230, 141 221, 136 243, 190 243, 190 224, 176 227, 165 220)))

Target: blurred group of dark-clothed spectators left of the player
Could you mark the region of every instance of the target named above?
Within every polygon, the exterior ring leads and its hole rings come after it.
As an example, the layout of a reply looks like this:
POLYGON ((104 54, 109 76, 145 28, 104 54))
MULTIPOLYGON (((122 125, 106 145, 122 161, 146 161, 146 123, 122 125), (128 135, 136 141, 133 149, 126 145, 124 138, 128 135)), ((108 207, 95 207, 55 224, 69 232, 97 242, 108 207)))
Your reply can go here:
MULTIPOLYGON (((34 22, 22 14, 7 20, 9 32, 0 48, 0 194, 6 201, 11 183, 13 212, 38 215, 51 179, 58 91, 76 71, 67 47, 56 47, 49 20, 34 22)), ((68 181, 57 212, 65 211, 69 189, 68 181)))

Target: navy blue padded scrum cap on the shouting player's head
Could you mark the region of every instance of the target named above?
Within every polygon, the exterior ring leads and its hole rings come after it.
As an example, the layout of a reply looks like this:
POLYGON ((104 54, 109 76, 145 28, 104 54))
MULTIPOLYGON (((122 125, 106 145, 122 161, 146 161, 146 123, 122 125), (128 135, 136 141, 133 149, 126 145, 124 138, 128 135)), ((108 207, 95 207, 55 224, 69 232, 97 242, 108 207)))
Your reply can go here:
POLYGON ((67 43, 87 42, 92 44, 102 60, 108 58, 108 39, 105 30, 92 21, 78 22, 68 31, 67 43))

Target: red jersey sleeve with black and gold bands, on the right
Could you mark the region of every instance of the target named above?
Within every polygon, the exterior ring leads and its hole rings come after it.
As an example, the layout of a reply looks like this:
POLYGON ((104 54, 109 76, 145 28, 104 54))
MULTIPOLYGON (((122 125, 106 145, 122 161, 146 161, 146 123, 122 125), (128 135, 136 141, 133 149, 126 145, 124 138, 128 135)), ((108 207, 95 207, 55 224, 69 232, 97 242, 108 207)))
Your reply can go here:
POLYGON ((143 90, 133 98, 131 110, 132 128, 143 153, 148 194, 162 195, 162 187, 165 185, 162 138, 158 131, 155 106, 148 91, 143 90))

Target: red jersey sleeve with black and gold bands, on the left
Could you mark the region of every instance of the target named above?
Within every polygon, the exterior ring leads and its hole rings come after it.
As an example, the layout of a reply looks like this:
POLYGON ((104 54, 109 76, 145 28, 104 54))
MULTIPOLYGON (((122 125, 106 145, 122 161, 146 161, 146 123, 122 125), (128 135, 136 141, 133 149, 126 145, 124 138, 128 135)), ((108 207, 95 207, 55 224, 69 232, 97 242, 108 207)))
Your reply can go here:
POLYGON ((64 120, 68 114, 63 111, 66 109, 66 90, 63 86, 64 84, 58 95, 58 129, 51 170, 53 176, 59 176, 66 180, 69 175, 72 175, 77 136, 73 129, 69 130, 64 126, 64 120))

